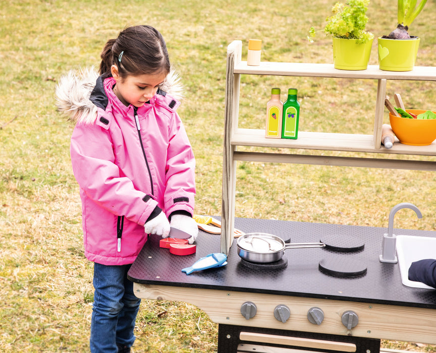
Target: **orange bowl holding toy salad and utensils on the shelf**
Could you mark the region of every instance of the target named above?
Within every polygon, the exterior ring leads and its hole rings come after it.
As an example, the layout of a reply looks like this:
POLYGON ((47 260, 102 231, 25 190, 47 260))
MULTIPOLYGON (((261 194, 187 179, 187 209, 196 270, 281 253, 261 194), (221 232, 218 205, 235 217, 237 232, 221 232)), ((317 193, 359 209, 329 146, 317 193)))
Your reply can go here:
MULTIPOLYGON (((426 110, 406 109, 408 113, 421 114, 426 110)), ((389 113, 395 136, 405 145, 426 146, 436 139, 436 119, 409 119, 389 113)))

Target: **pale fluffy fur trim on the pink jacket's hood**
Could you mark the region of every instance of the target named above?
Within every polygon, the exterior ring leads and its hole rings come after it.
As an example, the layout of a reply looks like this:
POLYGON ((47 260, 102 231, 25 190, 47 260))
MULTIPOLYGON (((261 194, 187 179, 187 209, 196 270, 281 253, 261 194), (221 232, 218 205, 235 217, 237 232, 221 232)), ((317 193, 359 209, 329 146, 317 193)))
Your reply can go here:
MULTIPOLYGON (((97 117, 97 106, 89 100, 98 73, 94 68, 70 70, 62 76, 56 86, 56 106, 58 111, 73 123, 93 124, 97 117)), ((183 98, 180 76, 171 70, 159 87, 177 100, 183 98)))

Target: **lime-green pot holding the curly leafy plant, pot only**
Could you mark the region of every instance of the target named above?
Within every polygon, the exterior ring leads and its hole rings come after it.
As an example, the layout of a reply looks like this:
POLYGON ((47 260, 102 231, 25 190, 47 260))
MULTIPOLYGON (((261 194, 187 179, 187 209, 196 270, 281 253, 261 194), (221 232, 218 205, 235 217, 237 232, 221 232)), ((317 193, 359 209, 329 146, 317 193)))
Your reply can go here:
POLYGON ((371 54, 372 39, 356 44, 356 39, 333 37, 333 64, 340 70, 366 70, 371 54))

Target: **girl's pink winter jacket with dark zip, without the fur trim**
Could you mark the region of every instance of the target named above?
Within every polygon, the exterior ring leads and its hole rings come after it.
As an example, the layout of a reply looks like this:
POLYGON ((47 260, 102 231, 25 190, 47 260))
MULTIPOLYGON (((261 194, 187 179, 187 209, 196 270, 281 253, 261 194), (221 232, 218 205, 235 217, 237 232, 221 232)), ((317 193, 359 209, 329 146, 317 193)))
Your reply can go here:
MULTIPOLYGON (((144 223, 156 206, 167 217, 194 213, 195 160, 176 112, 180 102, 159 89, 143 106, 125 106, 114 85, 112 77, 99 77, 89 87, 94 107, 88 105, 86 116, 73 114, 70 149, 85 256, 103 265, 135 260, 147 241, 144 223)), ((58 107, 59 99, 58 94, 58 107)))

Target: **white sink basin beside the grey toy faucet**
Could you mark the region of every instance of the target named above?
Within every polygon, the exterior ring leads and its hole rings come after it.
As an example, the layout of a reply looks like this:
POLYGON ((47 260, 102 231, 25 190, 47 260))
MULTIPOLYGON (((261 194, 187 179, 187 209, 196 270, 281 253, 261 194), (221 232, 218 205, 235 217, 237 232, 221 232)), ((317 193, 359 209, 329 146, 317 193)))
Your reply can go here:
POLYGON ((415 288, 429 288, 421 282, 409 280, 409 267, 414 261, 436 259, 436 238, 397 236, 397 258, 400 265, 401 282, 415 288))

